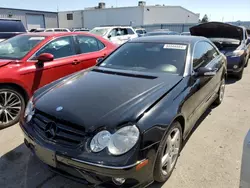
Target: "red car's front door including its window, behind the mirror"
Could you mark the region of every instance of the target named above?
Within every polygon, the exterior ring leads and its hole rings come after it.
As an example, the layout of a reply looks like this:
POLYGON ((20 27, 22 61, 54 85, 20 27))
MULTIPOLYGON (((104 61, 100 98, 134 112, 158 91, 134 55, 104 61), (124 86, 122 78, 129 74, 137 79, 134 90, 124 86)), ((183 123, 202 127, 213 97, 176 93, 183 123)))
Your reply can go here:
POLYGON ((26 83, 32 83, 32 92, 38 88, 78 71, 75 65, 77 54, 72 36, 56 38, 38 50, 27 62, 26 83), (42 53, 54 55, 54 60, 38 66, 36 58, 42 53))

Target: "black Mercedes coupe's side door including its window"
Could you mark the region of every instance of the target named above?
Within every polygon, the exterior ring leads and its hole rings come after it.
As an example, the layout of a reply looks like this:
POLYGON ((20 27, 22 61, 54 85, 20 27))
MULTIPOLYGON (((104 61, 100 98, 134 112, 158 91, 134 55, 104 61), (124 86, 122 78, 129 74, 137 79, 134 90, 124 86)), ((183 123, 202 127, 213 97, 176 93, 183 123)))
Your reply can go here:
POLYGON ((208 44, 209 43, 205 41, 201 41, 198 42, 194 48, 192 62, 193 75, 190 76, 188 86, 190 95, 183 105, 184 111, 186 112, 185 116, 187 117, 187 124, 189 125, 187 127, 188 130, 192 129, 193 124, 209 106, 215 88, 214 83, 216 82, 217 75, 198 77, 195 74, 201 67, 214 68, 218 66, 217 63, 214 63, 213 60, 211 61, 211 59, 208 58, 208 54, 211 53, 208 44))

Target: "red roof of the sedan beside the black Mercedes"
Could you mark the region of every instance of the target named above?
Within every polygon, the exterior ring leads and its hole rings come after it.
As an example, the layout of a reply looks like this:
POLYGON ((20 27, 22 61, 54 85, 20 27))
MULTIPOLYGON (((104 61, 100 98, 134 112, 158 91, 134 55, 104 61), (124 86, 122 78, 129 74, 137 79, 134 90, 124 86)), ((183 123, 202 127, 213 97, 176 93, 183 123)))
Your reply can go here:
POLYGON ((40 37, 61 37, 61 36, 70 36, 70 35, 87 35, 87 36, 94 36, 98 38, 98 36, 91 34, 89 32, 40 32, 40 33, 25 33, 22 35, 30 35, 30 36, 40 36, 40 37))

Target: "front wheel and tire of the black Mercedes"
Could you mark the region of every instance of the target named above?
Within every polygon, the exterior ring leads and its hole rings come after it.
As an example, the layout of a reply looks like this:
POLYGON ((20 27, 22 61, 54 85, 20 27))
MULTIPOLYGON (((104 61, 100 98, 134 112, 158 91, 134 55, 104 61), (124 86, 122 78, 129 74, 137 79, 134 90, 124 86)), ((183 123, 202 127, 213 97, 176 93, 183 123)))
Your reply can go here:
POLYGON ((182 147, 182 128, 174 122, 162 140, 154 166, 154 180, 163 183, 171 176, 182 147))

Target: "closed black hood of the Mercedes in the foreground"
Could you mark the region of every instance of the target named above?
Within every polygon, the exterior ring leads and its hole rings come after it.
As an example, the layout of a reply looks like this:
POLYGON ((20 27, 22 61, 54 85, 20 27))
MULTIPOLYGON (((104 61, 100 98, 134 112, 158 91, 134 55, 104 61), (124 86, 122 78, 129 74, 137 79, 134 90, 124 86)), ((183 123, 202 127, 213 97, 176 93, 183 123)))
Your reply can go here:
MULTIPOLYGON (((35 97, 35 108, 58 119, 94 131, 116 128, 137 118, 167 94, 182 76, 141 75, 95 68, 51 86, 35 97), (57 112, 58 107, 63 110, 57 112)), ((38 90, 39 92, 39 90, 38 90)))

